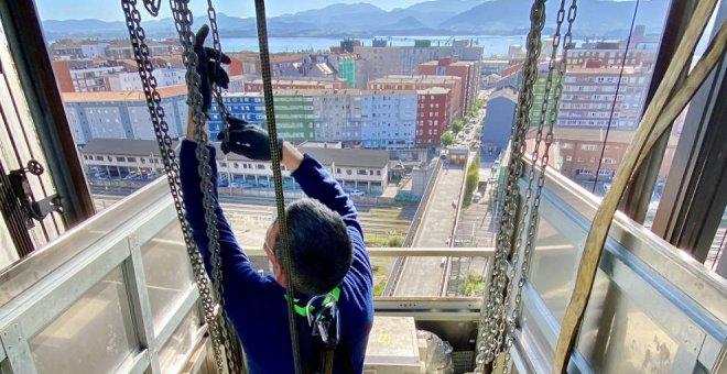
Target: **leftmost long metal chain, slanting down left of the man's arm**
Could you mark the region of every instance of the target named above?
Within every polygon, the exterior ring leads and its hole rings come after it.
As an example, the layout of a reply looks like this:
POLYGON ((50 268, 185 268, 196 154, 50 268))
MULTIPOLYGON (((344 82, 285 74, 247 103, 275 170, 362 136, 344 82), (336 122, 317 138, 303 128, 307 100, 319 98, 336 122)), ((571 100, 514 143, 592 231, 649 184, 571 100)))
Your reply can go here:
MULTIPOLYGON (((150 1, 145 1, 144 6, 150 10, 150 1)), ((150 61, 149 46, 145 42, 144 29, 141 26, 141 14, 137 9, 137 0, 122 0, 121 6, 126 15, 127 29, 129 31, 129 40, 134 52, 134 59, 137 61, 137 67, 139 70, 139 77, 141 78, 144 96, 147 99, 147 107, 149 109, 152 127, 154 129, 154 134, 156 142, 160 146, 161 158, 164 164, 164 170, 166 173, 166 178, 170 185, 170 190, 172 198, 174 200, 174 207, 176 210, 177 219, 182 228, 182 234, 184 237, 185 246, 187 249, 187 254, 189 256, 192 271, 194 274, 195 283, 199 290, 199 297, 202 299, 205 321, 208 326, 208 331, 211 339, 213 351, 215 355, 215 362, 218 373, 224 373, 225 371, 225 359, 224 352, 221 351, 220 345, 220 323, 215 316, 215 301, 213 299, 211 292, 209 289, 209 280, 204 267, 204 261, 199 254, 193 238, 192 229, 187 223, 184 217, 184 201, 182 199, 182 184, 180 180, 180 167, 176 162, 175 152, 172 147, 172 139, 169 134, 169 124, 165 120, 164 108, 162 107, 162 98, 159 95, 158 81, 153 76, 153 65, 150 61)), ((159 12, 159 1, 155 8, 151 9, 150 12, 152 15, 158 14, 159 12), (153 10, 153 11, 152 11, 153 10)), ((196 57, 196 56, 195 56, 196 57)), ((197 92, 198 92, 198 81, 197 76, 197 92)), ((199 102, 200 99, 197 99, 199 102)), ((197 103, 198 105, 198 103, 197 103)), ((202 178, 205 179, 204 176, 202 178)), ((208 178, 209 179, 209 178, 208 178)), ((204 189, 203 189, 204 193, 204 189)), ((229 364, 228 364, 229 365, 229 364)))

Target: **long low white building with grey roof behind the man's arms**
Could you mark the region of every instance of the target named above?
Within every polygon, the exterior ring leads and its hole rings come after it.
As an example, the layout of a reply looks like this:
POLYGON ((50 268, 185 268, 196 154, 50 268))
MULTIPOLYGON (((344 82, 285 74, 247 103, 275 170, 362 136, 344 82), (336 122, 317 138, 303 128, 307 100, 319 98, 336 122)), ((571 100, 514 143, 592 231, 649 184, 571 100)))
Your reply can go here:
MULTIPOLYGON (((176 143, 176 142, 175 142, 176 143)), ((176 144, 173 144, 175 146, 176 144)), ((273 187, 272 163, 254 161, 217 148, 217 172, 220 187, 231 182, 245 188, 273 187)), ((389 152, 371 150, 343 150, 303 144, 299 147, 321 162, 346 190, 358 189, 380 195, 389 182, 389 152)), ((89 176, 101 178, 143 179, 164 173, 159 145, 154 140, 94 139, 80 150, 82 161, 89 176)), ((289 172, 283 169, 283 186, 296 187, 289 172)))

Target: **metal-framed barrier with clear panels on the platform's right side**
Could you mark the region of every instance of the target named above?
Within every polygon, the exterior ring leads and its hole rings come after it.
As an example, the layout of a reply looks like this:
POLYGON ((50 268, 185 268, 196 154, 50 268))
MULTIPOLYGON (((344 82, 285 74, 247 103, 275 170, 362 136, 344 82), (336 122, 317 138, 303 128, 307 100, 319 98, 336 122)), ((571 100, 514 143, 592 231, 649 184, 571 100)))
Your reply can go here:
MULTIPOLYGON (((549 170, 545 178, 513 346, 519 372, 551 371, 583 245, 600 204, 561 174, 549 170)), ((725 305, 724 278, 618 212, 568 372, 724 371, 725 305)))

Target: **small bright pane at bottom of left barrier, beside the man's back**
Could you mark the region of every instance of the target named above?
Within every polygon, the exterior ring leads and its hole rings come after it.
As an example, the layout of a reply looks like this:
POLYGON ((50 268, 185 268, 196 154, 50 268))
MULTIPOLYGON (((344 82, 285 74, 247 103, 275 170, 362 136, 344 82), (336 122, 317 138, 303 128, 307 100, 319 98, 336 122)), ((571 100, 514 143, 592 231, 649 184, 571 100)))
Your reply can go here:
POLYGON ((175 373, 182 369, 199 337, 199 326, 200 320, 197 316, 197 309, 192 308, 159 352, 162 373, 175 373))

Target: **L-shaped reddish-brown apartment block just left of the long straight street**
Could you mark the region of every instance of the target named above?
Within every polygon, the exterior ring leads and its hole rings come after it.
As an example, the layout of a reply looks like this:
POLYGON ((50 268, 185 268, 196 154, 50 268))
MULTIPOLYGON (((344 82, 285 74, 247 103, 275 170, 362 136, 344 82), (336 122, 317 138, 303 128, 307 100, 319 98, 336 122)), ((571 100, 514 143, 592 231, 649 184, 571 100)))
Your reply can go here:
POLYGON ((449 56, 420 64, 416 74, 459 77, 462 79, 459 97, 463 101, 463 114, 467 113, 477 100, 479 69, 475 62, 457 61, 456 56, 449 56))

